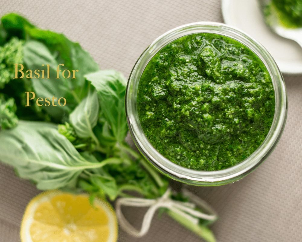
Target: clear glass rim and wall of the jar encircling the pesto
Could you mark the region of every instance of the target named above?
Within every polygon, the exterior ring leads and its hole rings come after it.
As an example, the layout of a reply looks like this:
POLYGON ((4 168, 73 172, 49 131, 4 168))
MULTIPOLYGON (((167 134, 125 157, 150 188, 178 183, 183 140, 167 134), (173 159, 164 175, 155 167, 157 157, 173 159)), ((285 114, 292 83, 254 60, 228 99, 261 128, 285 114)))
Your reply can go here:
POLYGON ((243 178, 257 168, 276 147, 284 129, 287 115, 287 96, 284 80, 277 64, 257 41, 239 29, 214 22, 182 25, 161 35, 139 57, 130 74, 126 90, 126 115, 130 134, 143 156, 160 172, 191 185, 224 185, 243 178), (218 171, 198 171, 179 166, 161 155, 149 142, 140 124, 137 111, 137 90, 144 69, 152 57, 172 41, 196 33, 213 33, 235 39, 252 50, 267 68, 275 90, 275 114, 271 128, 262 144, 237 165, 218 171))

